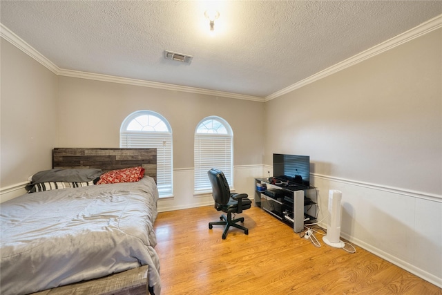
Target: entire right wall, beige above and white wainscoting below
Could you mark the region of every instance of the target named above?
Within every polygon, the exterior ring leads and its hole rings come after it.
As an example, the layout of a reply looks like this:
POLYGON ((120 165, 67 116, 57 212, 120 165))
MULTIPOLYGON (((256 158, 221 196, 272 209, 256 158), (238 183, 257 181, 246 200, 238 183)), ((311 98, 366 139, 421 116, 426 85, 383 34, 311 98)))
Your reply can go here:
POLYGON ((342 191, 340 236, 439 287, 441 85, 439 29, 265 106, 265 164, 310 155, 320 225, 342 191))

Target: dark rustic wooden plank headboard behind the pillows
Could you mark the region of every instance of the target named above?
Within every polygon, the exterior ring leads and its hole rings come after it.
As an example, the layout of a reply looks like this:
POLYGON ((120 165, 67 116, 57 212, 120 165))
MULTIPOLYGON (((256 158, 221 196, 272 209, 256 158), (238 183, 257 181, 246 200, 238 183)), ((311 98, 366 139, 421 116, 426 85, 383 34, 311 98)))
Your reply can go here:
POLYGON ((157 149, 54 148, 52 168, 103 171, 143 166, 146 175, 157 181, 157 149))

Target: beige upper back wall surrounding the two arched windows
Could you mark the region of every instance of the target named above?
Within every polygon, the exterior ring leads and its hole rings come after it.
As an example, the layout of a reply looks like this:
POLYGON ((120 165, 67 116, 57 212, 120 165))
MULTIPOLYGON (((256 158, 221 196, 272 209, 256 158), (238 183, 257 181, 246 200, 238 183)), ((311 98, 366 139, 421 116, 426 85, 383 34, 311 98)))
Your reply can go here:
POLYGON ((59 144, 118 147, 123 120, 134 111, 163 115, 173 132, 173 168, 193 167, 193 135, 217 115, 233 129, 234 165, 262 164, 264 104, 142 86, 59 77, 59 144))

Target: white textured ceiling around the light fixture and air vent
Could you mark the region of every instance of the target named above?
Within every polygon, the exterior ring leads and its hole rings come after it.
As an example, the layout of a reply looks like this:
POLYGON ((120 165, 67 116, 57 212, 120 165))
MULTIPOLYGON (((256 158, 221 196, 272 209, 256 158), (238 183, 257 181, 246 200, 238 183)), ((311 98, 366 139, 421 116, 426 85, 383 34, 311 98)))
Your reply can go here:
POLYGON ((266 97, 441 15, 442 1, 2 0, 0 13, 61 69, 266 97))

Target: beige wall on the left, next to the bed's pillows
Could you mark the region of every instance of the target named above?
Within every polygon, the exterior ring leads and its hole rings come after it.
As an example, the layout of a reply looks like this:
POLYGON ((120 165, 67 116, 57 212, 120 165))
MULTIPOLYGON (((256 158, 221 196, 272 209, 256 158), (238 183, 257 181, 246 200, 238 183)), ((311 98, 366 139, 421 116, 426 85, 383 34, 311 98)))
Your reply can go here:
POLYGON ((51 168, 57 145, 57 76, 1 40, 1 187, 51 168))

